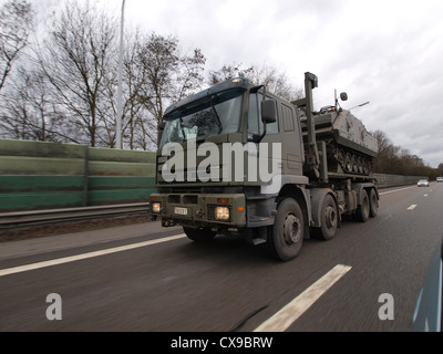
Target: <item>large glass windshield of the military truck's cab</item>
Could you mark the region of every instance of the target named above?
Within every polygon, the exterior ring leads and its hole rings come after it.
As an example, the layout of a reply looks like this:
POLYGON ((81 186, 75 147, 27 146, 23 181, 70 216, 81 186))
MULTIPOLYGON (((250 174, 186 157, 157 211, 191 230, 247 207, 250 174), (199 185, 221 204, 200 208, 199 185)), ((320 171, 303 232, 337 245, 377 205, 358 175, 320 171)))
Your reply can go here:
POLYGON ((238 132, 243 93, 244 90, 229 90, 167 114, 159 148, 168 143, 238 132))

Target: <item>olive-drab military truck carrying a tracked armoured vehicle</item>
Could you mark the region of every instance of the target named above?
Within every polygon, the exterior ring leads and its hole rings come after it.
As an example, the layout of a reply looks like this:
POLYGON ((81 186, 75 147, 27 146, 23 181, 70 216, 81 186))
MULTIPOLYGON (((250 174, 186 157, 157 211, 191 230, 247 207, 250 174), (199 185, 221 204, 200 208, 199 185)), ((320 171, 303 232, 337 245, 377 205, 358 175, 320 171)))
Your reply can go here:
POLYGON ((152 218, 182 226, 196 242, 241 236, 289 261, 305 239, 332 239, 346 216, 375 217, 377 140, 337 94, 316 112, 316 87, 317 76, 306 73, 306 96, 287 102, 238 77, 168 107, 152 218))

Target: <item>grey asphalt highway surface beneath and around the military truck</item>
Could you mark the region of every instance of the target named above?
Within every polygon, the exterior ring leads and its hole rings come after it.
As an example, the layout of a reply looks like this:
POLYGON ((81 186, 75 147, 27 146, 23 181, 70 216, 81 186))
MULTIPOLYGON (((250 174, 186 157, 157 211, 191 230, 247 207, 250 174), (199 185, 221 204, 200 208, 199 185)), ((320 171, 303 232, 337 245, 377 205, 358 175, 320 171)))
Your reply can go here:
POLYGON ((443 184, 381 192, 375 219, 288 263, 158 222, 0 243, 0 331, 411 331, 443 184))

